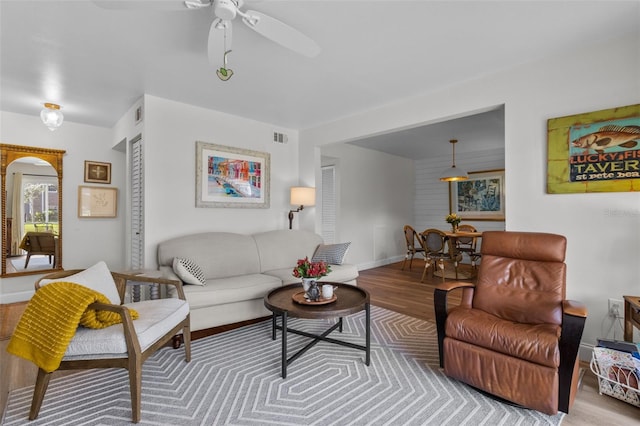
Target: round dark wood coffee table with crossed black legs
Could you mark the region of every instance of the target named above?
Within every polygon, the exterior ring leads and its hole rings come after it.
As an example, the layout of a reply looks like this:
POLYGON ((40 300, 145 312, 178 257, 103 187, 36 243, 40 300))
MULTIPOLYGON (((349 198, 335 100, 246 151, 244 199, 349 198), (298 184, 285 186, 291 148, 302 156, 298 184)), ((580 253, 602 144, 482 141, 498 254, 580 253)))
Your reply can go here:
POLYGON ((369 303, 369 293, 363 289, 350 284, 333 283, 322 281, 322 284, 332 284, 337 287, 335 290, 336 300, 327 304, 306 305, 295 302, 293 296, 302 290, 301 284, 290 284, 272 290, 264 297, 264 306, 273 312, 271 318, 271 329, 273 340, 276 339, 276 330, 282 330, 282 378, 287 377, 287 366, 295 361, 298 357, 311 349, 319 341, 335 343, 337 345, 347 346, 354 349, 365 351, 365 364, 371 363, 371 307, 369 303), (327 337, 331 332, 338 329, 342 333, 342 318, 357 312, 365 311, 365 345, 356 345, 351 342, 332 339, 327 337), (276 318, 282 317, 282 325, 278 325, 276 318), (287 318, 306 318, 306 319, 327 319, 338 318, 338 321, 322 334, 312 334, 306 331, 294 330, 287 327, 287 318), (300 336, 310 337, 312 342, 304 348, 287 358, 287 333, 298 334, 300 336))

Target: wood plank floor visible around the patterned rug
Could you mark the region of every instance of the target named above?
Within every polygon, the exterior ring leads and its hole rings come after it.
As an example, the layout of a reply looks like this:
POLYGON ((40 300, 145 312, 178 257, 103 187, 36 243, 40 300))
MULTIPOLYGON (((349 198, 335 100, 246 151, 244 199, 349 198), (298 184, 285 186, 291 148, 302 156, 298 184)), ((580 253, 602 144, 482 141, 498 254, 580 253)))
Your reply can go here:
MULTIPOLYGON (((389 310, 434 321, 434 283, 429 275, 425 283, 420 282, 424 261, 416 259, 410 271, 400 269, 401 263, 360 272, 358 285, 371 294, 371 303, 389 310)), ((459 294, 453 297, 459 301, 459 294), (456 299, 457 296, 457 299, 456 299)), ((0 417, 4 412, 10 390, 35 383, 37 369, 6 352, 9 336, 13 331, 25 303, 0 305, 0 417)), ((226 328, 228 329, 228 328, 226 328)), ((599 395, 596 377, 584 364, 585 375, 571 413, 565 416, 563 426, 584 425, 632 425, 640 424, 640 409, 615 398, 599 395)))

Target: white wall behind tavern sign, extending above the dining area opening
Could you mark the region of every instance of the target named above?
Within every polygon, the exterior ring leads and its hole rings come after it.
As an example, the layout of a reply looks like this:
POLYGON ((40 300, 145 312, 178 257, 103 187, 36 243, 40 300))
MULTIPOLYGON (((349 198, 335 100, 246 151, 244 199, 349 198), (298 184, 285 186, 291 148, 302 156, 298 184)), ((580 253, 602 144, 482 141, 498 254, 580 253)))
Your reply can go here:
MULTIPOLYGON (((589 318, 583 342, 593 344, 610 325, 607 299, 638 294, 640 193, 547 194, 546 123, 553 117, 637 103, 638 31, 306 129, 300 132, 300 158, 313 155, 316 147, 325 144, 504 104, 506 228, 567 237, 567 296, 586 303, 589 318)), ((351 219, 344 226, 352 227, 355 233, 365 232, 358 231, 358 220, 351 219)), ((621 338, 619 328, 616 337, 621 338)))

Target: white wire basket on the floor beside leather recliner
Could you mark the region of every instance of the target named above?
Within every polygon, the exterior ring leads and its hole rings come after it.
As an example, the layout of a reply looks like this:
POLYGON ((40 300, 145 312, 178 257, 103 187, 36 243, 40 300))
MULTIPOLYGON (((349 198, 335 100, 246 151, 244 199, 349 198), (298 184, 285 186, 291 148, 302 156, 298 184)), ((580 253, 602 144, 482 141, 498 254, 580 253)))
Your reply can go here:
POLYGON ((618 364, 606 365, 598 362, 595 354, 591 357, 591 371, 598 376, 600 395, 609 395, 640 407, 640 380, 634 371, 618 364))

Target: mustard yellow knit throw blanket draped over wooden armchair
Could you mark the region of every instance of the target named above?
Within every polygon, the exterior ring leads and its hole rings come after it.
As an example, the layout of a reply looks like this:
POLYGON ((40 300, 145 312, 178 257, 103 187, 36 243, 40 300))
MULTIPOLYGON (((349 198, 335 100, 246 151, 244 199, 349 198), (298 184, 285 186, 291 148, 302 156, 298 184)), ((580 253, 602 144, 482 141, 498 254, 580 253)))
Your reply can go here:
MULTIPOLYGON (((105 328, 122 322, 119 314, 88 309, 94 302, 111 302, 80 284, 55 282, 36 291, 20 317, 7 352, 29 360, 50 373, 60 366, 78 325, 105 328)), ((129 309, 132 319, 138 313, 129 309)))

